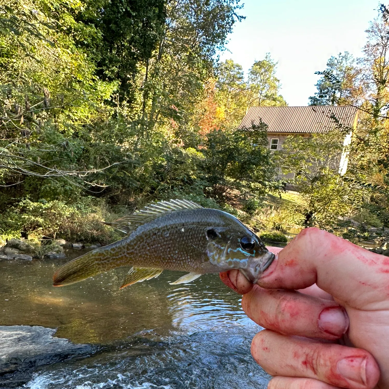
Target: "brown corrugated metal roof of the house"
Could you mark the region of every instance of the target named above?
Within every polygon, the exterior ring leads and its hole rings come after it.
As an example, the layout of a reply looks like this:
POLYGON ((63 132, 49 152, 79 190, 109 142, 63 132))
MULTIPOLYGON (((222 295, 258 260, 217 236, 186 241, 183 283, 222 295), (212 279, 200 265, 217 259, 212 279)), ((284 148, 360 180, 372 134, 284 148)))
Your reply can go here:
POLYGON ((332 130, 334 115, 344 126, 352 127, 358 109, 350 105, 310 105, 308 107, 250 107, 239 128, 251 123, 268 125, 268 132, 322 133, 332 130))

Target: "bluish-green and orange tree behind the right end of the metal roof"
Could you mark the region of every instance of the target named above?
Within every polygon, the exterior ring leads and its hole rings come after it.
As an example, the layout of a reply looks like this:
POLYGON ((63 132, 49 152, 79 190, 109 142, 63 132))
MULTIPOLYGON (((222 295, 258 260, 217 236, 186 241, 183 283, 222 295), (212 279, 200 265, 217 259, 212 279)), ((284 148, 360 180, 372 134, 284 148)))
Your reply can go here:
POLYGON ((309 105, 357 105, 363 98, 363 87, 358 84, 361 69, 356 66, 356 60, 348 52, 331 56, 327 68, 315 85, 317 92, 310 96, 309 105))

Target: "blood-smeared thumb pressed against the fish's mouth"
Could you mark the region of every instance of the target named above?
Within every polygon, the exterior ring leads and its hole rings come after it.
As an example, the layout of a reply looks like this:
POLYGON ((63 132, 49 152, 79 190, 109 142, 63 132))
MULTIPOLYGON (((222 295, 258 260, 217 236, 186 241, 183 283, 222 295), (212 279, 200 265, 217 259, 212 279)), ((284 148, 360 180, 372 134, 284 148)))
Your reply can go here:
POLYGON ((318 228, 306 228, 279 252, 258 285, 304 289, 316 283, 339 300, 363 304, 369 291, 377 295, 382 289, 387 296, 388 281, 389 258, 318 228))

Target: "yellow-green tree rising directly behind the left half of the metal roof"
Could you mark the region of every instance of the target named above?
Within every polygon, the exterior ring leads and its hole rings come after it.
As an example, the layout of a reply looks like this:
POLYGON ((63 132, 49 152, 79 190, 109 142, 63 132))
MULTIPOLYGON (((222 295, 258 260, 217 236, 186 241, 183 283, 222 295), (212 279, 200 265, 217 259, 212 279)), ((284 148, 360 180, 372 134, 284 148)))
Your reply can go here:
POLYGON ((277 62, 267 53, 264 60, 255 61, 249 70, 250 97, 248 106, 287 105, 279 95, 280 80, 275 77, 277 62))

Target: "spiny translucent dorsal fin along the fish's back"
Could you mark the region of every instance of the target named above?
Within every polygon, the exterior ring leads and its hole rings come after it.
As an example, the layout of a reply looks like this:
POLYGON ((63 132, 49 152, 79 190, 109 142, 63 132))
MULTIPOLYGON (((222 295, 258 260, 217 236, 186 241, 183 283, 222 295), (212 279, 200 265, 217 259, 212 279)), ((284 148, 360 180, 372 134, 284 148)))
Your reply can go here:
POLYGON ((171 212, 183 211, 188 209, 203 208, 189 200, 169 200, 160 201, 158 203, 151 203, 132 215, 121 217, 112 222, 103 222, 117 230, 126 234, 136 230, 142 224, 157 219, 160 216, 169 214, 171 212))

